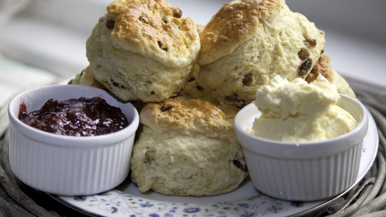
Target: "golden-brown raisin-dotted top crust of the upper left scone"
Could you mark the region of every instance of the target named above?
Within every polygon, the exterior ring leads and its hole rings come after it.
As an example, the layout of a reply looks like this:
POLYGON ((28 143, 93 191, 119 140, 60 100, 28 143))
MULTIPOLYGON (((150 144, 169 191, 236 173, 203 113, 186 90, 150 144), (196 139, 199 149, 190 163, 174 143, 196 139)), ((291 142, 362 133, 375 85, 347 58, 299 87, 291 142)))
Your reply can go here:
POLYGON ((116 47, 171 67, 189 64, 199 50, 193 20, 166 0, 116 0, 107 12, 112 19, 106 27, 113 29, 110 37, 116 47))

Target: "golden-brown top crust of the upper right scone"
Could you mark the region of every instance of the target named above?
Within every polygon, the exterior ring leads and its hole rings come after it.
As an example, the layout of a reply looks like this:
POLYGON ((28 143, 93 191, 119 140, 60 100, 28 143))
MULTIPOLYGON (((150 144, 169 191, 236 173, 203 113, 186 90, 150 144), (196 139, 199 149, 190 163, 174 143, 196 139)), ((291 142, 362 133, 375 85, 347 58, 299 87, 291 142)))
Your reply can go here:
POLYGON ((280 10, 282 0, 234 0, 227 2, 200 33, 198 64, 213 62, 231 54, 256 31, 259 19, 280 10))

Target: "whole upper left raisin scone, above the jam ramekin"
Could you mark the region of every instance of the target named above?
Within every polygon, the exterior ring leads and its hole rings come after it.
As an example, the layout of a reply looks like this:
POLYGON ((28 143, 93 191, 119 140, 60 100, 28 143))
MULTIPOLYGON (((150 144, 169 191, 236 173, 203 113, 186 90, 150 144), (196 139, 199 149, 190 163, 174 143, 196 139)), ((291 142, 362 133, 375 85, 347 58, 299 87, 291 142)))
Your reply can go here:
POLYGON ((193 20, 165 0, 111 2, 86 42, 91 74, 124 101, 181 92, 199 49, 193 20))

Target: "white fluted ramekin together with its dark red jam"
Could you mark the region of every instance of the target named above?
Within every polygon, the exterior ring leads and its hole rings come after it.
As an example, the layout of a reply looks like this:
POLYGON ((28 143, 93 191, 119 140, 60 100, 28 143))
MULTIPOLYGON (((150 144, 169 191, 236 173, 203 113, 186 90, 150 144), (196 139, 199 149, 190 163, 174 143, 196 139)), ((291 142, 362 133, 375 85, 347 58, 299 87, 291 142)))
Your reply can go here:
POLYGON ((35 88, 10 101, 8 117, 10 167, 30 187, 90 195, 129 173, 139 114, 111 93, 80 85, 35 88))

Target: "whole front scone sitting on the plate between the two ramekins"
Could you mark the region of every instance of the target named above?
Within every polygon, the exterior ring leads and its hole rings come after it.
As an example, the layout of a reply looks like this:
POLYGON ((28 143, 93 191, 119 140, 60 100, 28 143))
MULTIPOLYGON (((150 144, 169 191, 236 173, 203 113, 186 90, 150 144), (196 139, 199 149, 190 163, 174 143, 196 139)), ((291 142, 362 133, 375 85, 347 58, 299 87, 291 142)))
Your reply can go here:
POLYGON ((221 109, 183 97, 145 105, 130 163, 141 192, 207 196, 240 185, 248 172, 233 128, 239 109, 221 109))

